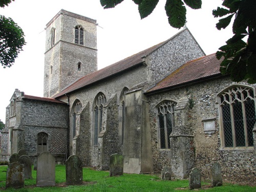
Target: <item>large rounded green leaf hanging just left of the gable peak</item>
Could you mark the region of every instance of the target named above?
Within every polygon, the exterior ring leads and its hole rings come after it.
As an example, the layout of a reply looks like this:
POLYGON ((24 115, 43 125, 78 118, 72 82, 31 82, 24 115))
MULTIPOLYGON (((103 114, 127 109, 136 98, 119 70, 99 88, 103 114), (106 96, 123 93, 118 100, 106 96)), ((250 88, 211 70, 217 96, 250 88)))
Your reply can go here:
POLYGON ((186 8, 181 0, 167 0, 166 15, 170 26, 180 29, 186 22, 186 8))

